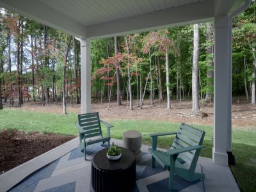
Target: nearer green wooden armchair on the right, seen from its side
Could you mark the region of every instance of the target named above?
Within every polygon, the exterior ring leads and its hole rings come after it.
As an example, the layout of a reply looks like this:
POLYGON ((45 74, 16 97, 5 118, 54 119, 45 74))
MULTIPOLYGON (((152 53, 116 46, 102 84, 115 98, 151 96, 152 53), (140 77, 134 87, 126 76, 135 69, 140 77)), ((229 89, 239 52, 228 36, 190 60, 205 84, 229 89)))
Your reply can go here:
POLYGON ((155 168, 157 161, 165 170, 170 172, 170 191, 173 188, 173 176, 175 174, 189 182, 205 178, 204 174, 195 172, 200 149, 204 148, 202 146, 204 135, 204 131, 187 124, 180 124, 177 132, 149 134, 152 137, 152 148, 148 149, 152 155, 152 168, 155 168), (172 147, 166 152, 157 150, 157 138, 171 134, 176 135, 172 147))

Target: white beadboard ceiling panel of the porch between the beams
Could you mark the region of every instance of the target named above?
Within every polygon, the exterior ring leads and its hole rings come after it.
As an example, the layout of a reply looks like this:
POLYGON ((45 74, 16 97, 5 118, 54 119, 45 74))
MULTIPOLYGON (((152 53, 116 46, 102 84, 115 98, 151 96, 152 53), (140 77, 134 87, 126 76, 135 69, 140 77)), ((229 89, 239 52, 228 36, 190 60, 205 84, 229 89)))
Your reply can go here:
POLYGON ((38 0, 84 26, 207 0, 38 0))

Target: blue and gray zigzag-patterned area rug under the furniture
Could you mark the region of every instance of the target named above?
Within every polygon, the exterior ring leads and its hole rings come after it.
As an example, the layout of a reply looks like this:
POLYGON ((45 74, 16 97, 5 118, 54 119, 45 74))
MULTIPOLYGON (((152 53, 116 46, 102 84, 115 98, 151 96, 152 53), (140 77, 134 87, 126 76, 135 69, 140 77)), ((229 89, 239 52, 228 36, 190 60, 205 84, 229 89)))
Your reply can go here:
MULTIPOLYGON (((65 156, 48 164, 44 168, 29 175, 10 191, 94 191, 91 185, 91 161, 94 154, 105 146, 90 145, 84 161, 83 153, 76 148, 65 156)), ((202 172, 201 166, 196 167, 202 172)), ((159 164, 151 168, 151 157, 147 151, 141 153, 140 161, 136 164, 136 186, 134 192, 168 191, 169 173, 159 164)), ((173 191, 204 191, 204 180, 188 182, 178 176, 174 177, 173 191)))

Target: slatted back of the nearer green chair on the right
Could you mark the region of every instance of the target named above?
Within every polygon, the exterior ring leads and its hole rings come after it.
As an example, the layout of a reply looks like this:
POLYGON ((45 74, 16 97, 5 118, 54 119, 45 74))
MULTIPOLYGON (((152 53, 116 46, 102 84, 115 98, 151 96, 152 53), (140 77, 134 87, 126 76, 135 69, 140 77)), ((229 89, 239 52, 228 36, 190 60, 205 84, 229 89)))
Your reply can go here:
MULTIPOLYGON (((202 145, 204 140, 204 135, 205 135, 204 131, 196 129, 191 125, 180 124, 180 128, 177 132, 175 140, 173 141, 171 149, 202 145)), ((184 152, 179 154, 179 156, 177 157, 177 161, 179 161, 179 163, 181 164, 186 163, 186 166, 189 169, 191 168, 192 170, 195 170, 198 157, 199 157, 199 151, 193 150, 191 152, 184 152)))

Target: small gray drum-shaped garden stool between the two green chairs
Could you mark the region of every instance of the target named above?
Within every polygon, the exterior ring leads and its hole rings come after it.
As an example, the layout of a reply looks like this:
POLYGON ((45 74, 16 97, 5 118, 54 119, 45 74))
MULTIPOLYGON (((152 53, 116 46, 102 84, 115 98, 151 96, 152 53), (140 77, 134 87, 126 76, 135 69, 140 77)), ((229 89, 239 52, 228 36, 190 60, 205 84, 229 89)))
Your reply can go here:
POLYGON ((134 153, 136 160, 141 154, 141 133, 138 131, 123 132, 123 144, 125 148, 129 148, 134 153))

